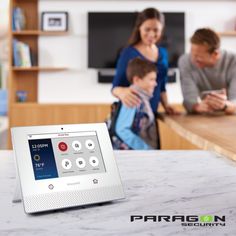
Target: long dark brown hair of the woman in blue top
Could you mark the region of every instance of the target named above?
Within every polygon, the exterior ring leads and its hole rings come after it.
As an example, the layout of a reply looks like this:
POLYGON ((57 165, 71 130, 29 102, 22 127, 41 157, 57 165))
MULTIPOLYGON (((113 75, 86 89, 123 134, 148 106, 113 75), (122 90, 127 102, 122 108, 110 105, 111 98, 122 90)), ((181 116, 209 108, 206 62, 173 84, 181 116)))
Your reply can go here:
POLYGON ((139 27, 143 24, 144 21, 150 19, 157 19, 158 21, 160 21, 163 27, 165 25, 165 17, 161 12, 159 12, 155 8, 144 9, 142 12, 138 14, 133 32, 128 40, 128 45, 133 46, 141 40, 139 27))

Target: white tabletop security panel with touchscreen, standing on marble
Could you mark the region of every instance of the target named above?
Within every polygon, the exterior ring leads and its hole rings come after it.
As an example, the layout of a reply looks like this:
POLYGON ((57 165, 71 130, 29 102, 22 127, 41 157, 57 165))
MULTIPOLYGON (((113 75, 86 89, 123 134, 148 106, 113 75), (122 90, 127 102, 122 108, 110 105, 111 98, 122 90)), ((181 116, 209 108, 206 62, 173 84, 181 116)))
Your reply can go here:
POLYGON ((104 123, 15 127, 11 132, 26 213, 124 198, 104 123))

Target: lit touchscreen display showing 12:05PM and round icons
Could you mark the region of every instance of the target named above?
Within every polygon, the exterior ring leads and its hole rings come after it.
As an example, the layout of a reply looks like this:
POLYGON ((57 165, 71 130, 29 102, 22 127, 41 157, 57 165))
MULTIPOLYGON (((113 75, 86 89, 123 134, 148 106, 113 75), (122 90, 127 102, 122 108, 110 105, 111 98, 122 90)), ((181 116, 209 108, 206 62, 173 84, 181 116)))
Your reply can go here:
POLYGON ((95 131, 30 134, 35 180, 106 172, 95 131))

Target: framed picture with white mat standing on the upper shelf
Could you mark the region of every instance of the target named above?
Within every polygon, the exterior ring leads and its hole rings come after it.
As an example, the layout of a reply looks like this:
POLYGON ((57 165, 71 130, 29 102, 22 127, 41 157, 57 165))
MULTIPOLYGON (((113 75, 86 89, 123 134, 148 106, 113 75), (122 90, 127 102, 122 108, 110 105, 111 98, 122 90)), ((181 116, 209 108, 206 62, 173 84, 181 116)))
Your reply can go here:
POLYGON ((42 31, 68 31, 68 12, 42 12, 41 29, 42 31))

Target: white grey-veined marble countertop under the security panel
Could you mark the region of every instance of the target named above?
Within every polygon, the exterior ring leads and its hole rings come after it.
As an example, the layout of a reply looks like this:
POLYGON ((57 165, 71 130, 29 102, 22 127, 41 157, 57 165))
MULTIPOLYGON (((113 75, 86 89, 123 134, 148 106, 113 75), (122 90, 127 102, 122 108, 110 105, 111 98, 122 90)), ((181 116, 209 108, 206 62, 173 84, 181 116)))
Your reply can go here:
POLYGON ((0 235, 236 235, 236 164, 207 151, 117 152, 126 199, 26 215, 11 202, 15 167, 0 151, 0 235), (225 227, 130 222, 130 215, 225 215, 225 227))

